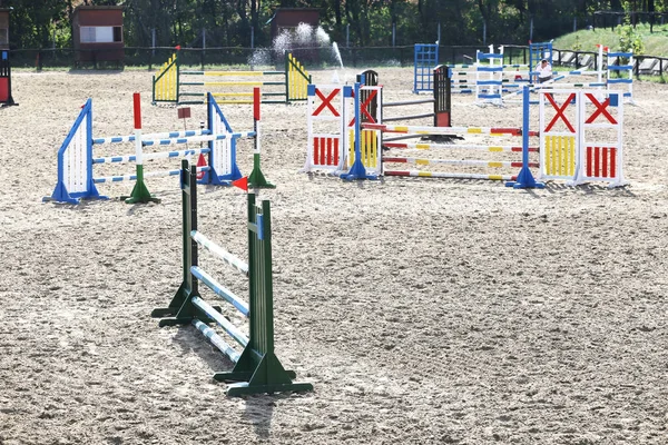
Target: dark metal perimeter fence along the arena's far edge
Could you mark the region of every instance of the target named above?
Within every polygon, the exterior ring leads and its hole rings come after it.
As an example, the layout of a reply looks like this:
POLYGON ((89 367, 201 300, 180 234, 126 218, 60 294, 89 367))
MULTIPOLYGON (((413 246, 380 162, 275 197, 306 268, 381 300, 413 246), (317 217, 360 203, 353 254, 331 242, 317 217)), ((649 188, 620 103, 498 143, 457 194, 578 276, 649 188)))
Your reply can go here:
MULTIPOLYGON (((302 61, 307 69, 327 68, 369 68, 369 67, 412 67, 414 61, 413 46, 369 47, 369 48, 292 48, 289 51, 302 61), (336 52, 338 51, 338 53, 336 52)), ((504 62, 529 63, 529 47, 504 46, 504 62)), ((440 63, 473 63, 477 50, 489 51, 483 46, 440 46, 440 63)), ((117 51, 117 50, 114 50, 117 51)), ((104 50, 84 51, 73 49, 24 49, 11 50, 10 59, 13 68, 42 69, 124 69, 125 67, 155 70, 161 67, 175 52, 174 48, 127 47, 121 60, 105 60, 104 50), (81 61, 90 60, 90 61, 81 61), (99 61, 98 61, 99 60, 99 61)), ((635 56, 633 75, 666 76, 668 58, 656 56, 635 56)), ((179 51, 179 61, 186 67, 200 69, 213 67, 254 67, 284 65, 283 50, 263 48, 184 48, 179 51)), ((553 50, 554 66, 572 69, 588 67, 598 69, 597 53, 591 51, 553 50), (568 56, 568 57, 567 57, 568 56), (566 62, 568 60, 568 63, 566 62)))

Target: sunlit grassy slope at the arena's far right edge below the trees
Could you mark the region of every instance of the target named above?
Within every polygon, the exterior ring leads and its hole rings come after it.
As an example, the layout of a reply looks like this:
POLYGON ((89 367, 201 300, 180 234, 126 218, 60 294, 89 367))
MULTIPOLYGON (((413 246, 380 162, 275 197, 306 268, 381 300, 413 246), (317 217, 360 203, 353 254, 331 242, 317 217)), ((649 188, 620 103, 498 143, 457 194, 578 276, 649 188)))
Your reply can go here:
MULTIPOLYGON (((580 30, 554 39, 554 48, 560 50, 596 51, 596 44, 602 43, 611 50, 619 50, 619 28, 580 30)), ((647 56, 668 57, 668 23, 655 24, 649 32, 649 24, 638 24, 635 32, 642 39, 644 53, 647 56)))

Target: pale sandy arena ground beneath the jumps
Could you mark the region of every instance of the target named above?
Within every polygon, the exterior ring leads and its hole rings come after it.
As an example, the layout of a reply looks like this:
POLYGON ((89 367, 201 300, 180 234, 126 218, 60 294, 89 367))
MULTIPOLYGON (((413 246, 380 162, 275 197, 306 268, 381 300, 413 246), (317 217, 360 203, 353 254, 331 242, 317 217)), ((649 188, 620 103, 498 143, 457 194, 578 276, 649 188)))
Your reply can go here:
MULTIPOLYGON (((412 97, 410 68, 379 71, 386 98, 412 97)), ((41 202, 87 98, 95 136, 131 132, 134 91, 145 132, 184 127, 150 106, 150 76, 14 73, 20 106, 0 110, 0 444, 668 443, 667 86, 636 83, 630 186, 615 190, 310 177, 305 105, 263 107, 277 355, 315 390, 228 398, 212 374, 230 362, 149 317, 181 279, 178 180, 147 180, 159 205, 120 201, 131 184, 101 185, 110 201, 41 202)), ((458 126, 521 122, 518 107, 453 100, 458 126)), ((223 110, 252 128, 248 106, 223 110)), ((246 258, 245 196, 202 191, 202 231, 246 258)))

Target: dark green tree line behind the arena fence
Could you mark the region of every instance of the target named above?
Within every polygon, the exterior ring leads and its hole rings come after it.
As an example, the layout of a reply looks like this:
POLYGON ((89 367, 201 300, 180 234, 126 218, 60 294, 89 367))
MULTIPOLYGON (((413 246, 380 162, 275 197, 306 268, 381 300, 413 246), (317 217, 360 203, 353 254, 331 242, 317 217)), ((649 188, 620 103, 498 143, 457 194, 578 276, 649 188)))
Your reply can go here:
POLYGON ((72 12, 85 3, 124 7, 127 47, 269 47, 277 8, 317 8, 331 40, 356 47, 438 36, 449 46, 525 44, 529 36, 542 41, 595 27, 595 12, 650 19, 668 12, 668 0, 0 0, 0 8, 12 8, 10 48, 71 48, 72 12))

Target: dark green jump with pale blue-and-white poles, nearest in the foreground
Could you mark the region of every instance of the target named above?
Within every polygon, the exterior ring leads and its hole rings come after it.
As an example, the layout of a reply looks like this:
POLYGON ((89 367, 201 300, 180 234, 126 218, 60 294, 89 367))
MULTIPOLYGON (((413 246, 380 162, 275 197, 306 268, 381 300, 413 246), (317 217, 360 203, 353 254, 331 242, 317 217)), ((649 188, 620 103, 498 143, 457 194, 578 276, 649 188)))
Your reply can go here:
POLYGON ((159 326, 191 324, 218 350, 235 363, 229 373, 215 373, 228 385, 228 396, 261 393, 313 390, 310 383, 293 382, 293 370, 286 370, 274 352, 274 296, 272 274, 272 222, 269 201, 256 204, 255 194, 248 194, 248 263, 218 246, 197 229, 197 169, 181 161, 183 199, 183 283, 166 308, 154 309, 151 317, 163 318, 159 326), (219 284, 199 266, 199 246, 214 257, 248 277, 248 303, 219 284), (246 336, 223 314, 220 308, 206 303, 199 293, 199 283, 216 296, 229 303, 249 322, 246 336), (166 318, 168 317, 168 318, 166 318), (243 347, 237 352, 209 324, 218 325, 243 347))

